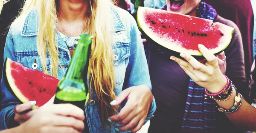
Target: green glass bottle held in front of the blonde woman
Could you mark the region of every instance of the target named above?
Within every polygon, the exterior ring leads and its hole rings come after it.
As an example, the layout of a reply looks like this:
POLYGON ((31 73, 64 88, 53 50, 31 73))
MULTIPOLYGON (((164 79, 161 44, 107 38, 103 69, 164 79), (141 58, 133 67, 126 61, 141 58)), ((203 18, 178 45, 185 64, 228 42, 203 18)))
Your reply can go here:
POLYGON ((71 103, 84 110, 89 98, 87 86, 88 63, 93 36, 81 34, 70 66, 58 83, 54 103, 71 103))

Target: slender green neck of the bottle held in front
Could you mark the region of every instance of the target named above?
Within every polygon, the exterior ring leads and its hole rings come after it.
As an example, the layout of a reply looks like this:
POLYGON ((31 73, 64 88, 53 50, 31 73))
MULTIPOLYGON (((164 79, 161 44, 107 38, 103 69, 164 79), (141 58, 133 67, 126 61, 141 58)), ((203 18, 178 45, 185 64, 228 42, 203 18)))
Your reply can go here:
POLYGON ((79 39, 76 49, 71 58, 70 66, 67 70, 65 78, 77 80, 83 82, 83 76, 87 76, 87 69, 90 59, 90 42, 79 39))

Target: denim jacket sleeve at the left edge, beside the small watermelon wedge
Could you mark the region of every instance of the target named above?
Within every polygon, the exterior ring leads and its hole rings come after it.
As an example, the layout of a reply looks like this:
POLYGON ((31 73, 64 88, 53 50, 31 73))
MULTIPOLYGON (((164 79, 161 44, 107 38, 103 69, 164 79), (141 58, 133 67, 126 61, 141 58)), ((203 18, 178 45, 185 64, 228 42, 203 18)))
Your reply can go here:
MULTIPOLYGON (((14 51, 14 43, 12 38, 12 29, 10 28, 9 33, 6 38, 6 44, 4 48, 3 61, 6 61, 6 58, 10 58, 12 61, 17 61, 14 51)), ((3 69, 4 71, 4 69, 3 69)), ((14 107, 20 100, 18 100, 8 89, 8 85, 5 83, 4 73, 2 75, 1 81, 1 103, 0 103, 0 130, 14 126, 14 107), (9 123, 9 126, 8 126, 9 123)))

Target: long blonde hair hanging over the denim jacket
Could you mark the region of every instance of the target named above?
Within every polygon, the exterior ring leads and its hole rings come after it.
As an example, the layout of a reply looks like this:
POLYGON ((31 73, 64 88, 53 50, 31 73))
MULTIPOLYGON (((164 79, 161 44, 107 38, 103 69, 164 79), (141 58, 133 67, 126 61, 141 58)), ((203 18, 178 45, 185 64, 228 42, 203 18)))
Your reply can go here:
MULTIPOLYGON (((39 17, 37 50, 44 69, 44 73, 57 77, 58 66, 58 45, 56 43, 58 20, 58 0, 27 0, 20 16, 23 16, 33 8, 37 8, 39 17), (49 54, 51 69, 47 71, 46 59, 49 54)), ((109 103, 116 98, 115 75, 113 71, 113 18, 111 14, 111 0, 88 0, 87 19, 85 29, 94 36, 91 47, 91 55, 88 69, 89 92, 93 97, 94 90, 99 102, 99 115, 102 125, 107 126, 107 119, 116 113, 117 108, 109 103), (90 75, 90 76, 89 76, 90 75), (91 88, 92 87, 92 88, 91 88)))

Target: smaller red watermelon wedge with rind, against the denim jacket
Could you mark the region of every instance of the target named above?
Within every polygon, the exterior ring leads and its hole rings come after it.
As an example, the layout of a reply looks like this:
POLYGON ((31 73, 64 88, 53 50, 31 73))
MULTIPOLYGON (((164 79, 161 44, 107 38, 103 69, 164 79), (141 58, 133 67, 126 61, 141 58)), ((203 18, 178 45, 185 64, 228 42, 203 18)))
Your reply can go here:
POLYGON ((5 72, 10 88, 22 103, 36 101, 32 109, 41 107, 56 93, 59 80, 41 71, 6 58, 5 72))

